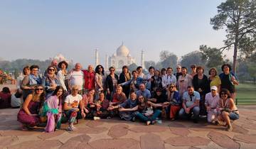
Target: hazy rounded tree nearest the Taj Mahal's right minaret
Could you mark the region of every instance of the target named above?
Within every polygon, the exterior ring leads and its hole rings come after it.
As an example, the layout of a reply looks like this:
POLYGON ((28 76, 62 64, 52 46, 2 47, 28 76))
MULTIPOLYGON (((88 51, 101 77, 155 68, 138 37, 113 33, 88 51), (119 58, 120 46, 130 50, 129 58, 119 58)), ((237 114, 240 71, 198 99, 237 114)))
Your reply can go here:
POLYGON ((161 67, 176 67, 178 57, 174 53, 170 53, 168 50, 163 50, 160 53, 161 67))

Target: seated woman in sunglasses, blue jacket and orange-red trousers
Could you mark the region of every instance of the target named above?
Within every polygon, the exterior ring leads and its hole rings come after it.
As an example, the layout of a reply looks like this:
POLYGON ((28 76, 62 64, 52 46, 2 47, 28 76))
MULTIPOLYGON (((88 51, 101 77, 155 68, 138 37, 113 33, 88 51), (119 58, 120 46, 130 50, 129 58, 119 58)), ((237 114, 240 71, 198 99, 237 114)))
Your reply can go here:
POLYGON ((168 97, 166 102, 164 102, 164 107, 168 111, 170 111, 170 119, 174 121, 178 111, 181 109, 181 98, 178 94, 175 84, 170 84, 168 88, 168 97))

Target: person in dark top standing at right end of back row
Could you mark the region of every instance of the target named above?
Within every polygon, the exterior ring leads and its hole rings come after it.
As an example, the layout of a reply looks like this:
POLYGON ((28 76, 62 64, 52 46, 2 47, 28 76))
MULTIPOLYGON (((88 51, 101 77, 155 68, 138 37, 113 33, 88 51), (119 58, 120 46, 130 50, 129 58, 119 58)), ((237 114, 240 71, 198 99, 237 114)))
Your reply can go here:
POLYGON ((236 79, 235 74, 231 72, 231 66, 229 64, 224 64, 221 66, 220 80, 221 80, 221 89, 228 89, 231 94, 231 99, 235 101, 235 85, 238 85, 238 79, 236 79))

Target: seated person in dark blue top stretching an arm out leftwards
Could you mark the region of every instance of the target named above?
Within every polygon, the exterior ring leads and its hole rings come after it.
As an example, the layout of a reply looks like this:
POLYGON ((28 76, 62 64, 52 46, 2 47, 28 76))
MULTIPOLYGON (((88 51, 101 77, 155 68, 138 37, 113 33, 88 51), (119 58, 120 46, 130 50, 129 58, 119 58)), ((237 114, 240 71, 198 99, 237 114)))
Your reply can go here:
POLYGON ((137 95, 135 92, 130 94, 130 99, 124 101, 122 104, 118 104, 117 106, 110 106, 109 110, 119 108, 119 116, 122 120, 126 121, 135 121, 135 114, 134 111, 137 111, 137 95))

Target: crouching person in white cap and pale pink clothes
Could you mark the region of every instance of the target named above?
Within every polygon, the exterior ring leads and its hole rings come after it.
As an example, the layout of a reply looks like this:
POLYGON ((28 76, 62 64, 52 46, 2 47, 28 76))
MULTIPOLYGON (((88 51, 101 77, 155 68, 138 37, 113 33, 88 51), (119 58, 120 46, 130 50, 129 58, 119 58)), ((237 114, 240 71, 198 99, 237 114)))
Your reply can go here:
POLYGON ((220 96, 218 94, 218 87, 210 87, 210 92, 206 94, 205 106, 207 110, 207 121, 208 123, 214 123, 217 121, 217 105, 220 101, 220 96))

